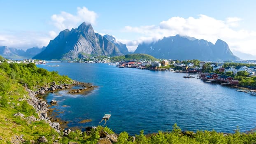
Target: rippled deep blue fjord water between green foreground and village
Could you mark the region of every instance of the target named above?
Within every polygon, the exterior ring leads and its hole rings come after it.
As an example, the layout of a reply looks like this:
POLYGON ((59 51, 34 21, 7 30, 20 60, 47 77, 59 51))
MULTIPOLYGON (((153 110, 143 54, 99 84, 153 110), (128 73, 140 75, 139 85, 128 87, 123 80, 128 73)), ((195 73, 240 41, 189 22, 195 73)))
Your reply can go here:
POLYGON ((167 131, 174 123, 182 130, 217 132, 234 132, 237 126, 247 131, 256 126, 255 96, 196 78, 184 79, 181 73, 97 63, 37 66, 99 86, 88 95, 71 95, 65 90, 47 95, 48 102, 58 101, 52 108, 61 111, 58 117, 69 121, 69 127, 97 126, 105 113, 112 114, 106 125, 117 133, 167 131), (92 121, 79 123, 84 119, 92 121))

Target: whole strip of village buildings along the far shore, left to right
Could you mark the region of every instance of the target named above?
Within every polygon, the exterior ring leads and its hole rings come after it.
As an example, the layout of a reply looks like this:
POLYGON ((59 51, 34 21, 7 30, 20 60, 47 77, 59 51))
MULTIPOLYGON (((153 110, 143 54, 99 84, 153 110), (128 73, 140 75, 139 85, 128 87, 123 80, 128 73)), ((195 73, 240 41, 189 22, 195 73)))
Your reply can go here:
MULTIPOLYGON (((7 63, 35 63, 45 64, 54 61, 45 60, 7 60, 7 63)), ((255 82, 250 84, 247 78, 256 77, 255 61, 237 61, 237 62, 212 62, 200 60, 126 60, 114 61, 109 57, 87 58, 86 60, 58 61, 67 63, 108 63, 120 68, 138 68, 141 70, 157 70, 168 72, 186 73, 184 78, 197 78, 205 82, 219 83, 229 86, 243 86, 249 89, 255 89, 255 82), (193 75, 192 75, 193 74, 193 75), (196 76, 195 76, 196 74, 196 76)), ((1 62, 0 62, 1 63, 1 62)), ((51 66, 51 65, 49 65, 51 66)), ((58 65, 57 65, 58 66, 58 65)))

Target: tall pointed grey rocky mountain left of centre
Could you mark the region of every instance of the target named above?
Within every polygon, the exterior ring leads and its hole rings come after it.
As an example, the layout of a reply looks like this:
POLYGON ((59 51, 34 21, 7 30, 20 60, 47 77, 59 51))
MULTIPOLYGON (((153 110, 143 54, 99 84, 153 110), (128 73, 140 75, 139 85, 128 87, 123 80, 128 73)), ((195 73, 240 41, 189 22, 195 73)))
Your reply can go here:
POLYGON ((49 42, 44 51, 33 58, 74 60, 90 56, 121 55, 123 54, 114 43, 95 33, 91 24, 84 22, 78 28, 61 31, 55 39, 49 42))

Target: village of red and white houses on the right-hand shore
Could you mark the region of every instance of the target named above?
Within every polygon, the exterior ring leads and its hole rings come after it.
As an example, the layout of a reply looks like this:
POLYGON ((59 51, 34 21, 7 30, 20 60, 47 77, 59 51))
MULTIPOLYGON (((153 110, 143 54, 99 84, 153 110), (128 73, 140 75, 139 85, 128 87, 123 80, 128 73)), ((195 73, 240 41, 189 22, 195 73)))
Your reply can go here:
MULTIPOLYGON (((229 63, 228 65, 227 63, 213 63, 197 60, 197 64, 194 64, 191 63, 191 61, 192 60, 180 62, 178 60, 162 60, 160 62, 136 62, 132 60, 120 62, 116 66, 120 68, 126 67, 139 68, 142 70, 160 70, 187 73, 184 78, 193 78, 193 75, 189 75, 193 73, 197 74, 197 79, 202 79, 205 82, 213 82, 229 86, 244 86, 243 77, 255 78, 256 65, 252 63, 229 63), (242 84, 240 84, 239 79, 242 80, 242 84)), ((252 85, 244 87, 249 89, 255 88, 252 85)))

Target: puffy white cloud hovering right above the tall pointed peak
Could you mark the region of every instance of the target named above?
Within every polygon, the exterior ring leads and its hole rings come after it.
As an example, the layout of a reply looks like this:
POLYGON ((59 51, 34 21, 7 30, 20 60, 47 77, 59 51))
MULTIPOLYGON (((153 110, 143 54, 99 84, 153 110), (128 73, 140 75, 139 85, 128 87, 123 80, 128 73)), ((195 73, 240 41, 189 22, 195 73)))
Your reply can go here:
POLYGON ((95 24, 97 14, 88 10, 86 7, 77 7, 77 14, 73 15, 67 12, 60 14, 53 14, 51 16, 51 23, 58 28, 58 30, 77 28, 82 22, 95 24))

